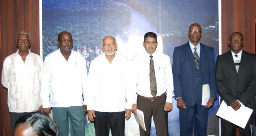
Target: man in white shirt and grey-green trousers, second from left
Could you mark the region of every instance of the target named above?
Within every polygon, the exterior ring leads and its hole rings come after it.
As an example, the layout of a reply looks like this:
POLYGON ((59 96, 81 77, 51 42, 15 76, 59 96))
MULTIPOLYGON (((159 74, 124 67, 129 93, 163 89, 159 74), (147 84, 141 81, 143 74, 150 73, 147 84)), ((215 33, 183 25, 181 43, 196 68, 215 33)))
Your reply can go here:
POLYGON ((58 35, 59 49, 45 57, 41 78, 41 112, 50 114, 60 129, 61 136, 68 136, 69 119, 71 135, 84 135, 84 114, 87 106, 83 103, 87 86, 86 60, 72 50, 73 39, 69 32, 58 35))

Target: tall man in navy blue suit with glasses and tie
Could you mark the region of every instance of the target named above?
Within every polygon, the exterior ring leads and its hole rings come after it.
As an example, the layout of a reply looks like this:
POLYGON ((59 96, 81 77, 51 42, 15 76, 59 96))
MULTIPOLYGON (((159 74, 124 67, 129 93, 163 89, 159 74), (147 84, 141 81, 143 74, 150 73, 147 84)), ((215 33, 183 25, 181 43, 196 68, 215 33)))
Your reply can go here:
POLYGON ((214 48, 201 44, 201 26, 190 25, 189 42, 175 47, 173 52, 173 80, 177 107, 180 109, 180 135, 205 136, 208 110, 217 98, 215 86, 214 48), (205 106, 202 102, 202 85, 209 84, 210 98, 205 106))

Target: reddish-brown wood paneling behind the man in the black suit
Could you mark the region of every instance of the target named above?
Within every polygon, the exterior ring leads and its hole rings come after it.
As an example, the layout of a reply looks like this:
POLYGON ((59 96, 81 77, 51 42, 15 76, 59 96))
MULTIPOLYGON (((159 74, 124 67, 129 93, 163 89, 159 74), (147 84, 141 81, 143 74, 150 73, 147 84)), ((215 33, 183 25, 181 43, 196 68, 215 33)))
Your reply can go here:
POLYGON ((245 39, 243 50, 255 54, 255 0, 223 0, 222 4, 222 53, 229 51, 227 39, 239 31, 245 39))

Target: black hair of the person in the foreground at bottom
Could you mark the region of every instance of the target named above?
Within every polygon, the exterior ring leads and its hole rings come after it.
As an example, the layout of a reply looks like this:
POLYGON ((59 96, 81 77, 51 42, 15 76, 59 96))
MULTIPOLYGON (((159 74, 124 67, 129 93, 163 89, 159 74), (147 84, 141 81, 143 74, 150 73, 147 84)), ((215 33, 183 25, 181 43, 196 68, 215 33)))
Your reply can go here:
POLYGON ((59 135, 58 126, 44 113, 32 112, 23 115, 16 121, 15 128, 21 124, 29 124, 38 136, 59 135))

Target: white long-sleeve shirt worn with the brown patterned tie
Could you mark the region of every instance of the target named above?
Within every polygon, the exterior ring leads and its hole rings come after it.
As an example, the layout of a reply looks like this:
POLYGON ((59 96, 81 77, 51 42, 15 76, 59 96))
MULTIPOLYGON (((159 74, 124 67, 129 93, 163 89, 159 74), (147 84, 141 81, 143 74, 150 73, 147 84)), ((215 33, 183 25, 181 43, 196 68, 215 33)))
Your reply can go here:
MULTIPOLYGON (((135 55, 132 59, 132 69, 136 74, 135 84, 137 84, 137 94, 144 97, 153 97, 150 92, 149 82, 149 62, 150 55, 143 51, 143 53, 135 55)), ((173 75, 168 55, 159 51, 155 51, 153 54, 155 75, 157 81, 157 96, 160 96, 166 92, 166 102, 172 102, 174 97, 173 87, 173 75)), ((133 103, 136 103, 134 101, 133 103)))

